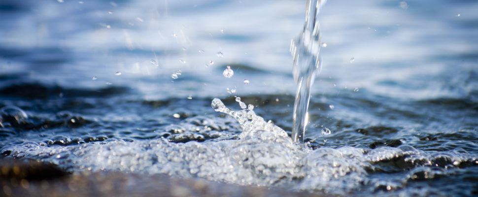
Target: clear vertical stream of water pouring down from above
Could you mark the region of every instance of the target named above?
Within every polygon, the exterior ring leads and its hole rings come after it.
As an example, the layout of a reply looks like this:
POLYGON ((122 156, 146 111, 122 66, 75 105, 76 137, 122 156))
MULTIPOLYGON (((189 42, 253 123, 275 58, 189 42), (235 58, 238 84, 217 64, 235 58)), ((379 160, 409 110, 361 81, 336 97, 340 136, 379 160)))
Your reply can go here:
POLYGON ((292 40, 290 52, 294 56, 293 75, 297 83, 294 102, 292 139, 303 142, 307 127, 307 108, 310 89, 317 72, 320 72, 320 25, 317 20, 320 7, 326 0, 308 0, 304 30, 292 40))

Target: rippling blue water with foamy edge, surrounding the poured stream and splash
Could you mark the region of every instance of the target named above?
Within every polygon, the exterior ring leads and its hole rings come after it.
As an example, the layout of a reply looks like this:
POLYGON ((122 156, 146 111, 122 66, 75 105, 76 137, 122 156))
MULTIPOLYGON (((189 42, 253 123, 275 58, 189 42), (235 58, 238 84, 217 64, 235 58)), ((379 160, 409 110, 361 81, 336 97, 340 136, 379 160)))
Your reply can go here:
POLYGON ((290 136, 289 45, 305 2, 3 0, 0 151, 70 171, 337 195, 477 195, 477 8, 329 0, 324 67, 297 146, 267 131, 241 135, 211 101, 238 111, 239 96, 290 136))

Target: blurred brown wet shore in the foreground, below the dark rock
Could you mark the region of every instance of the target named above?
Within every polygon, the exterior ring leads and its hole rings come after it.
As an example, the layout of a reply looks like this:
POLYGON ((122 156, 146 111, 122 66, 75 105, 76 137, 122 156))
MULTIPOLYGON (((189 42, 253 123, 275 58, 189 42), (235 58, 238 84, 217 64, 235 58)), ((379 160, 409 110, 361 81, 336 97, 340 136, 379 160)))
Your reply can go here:
POLYGON ((179 179, 163 174, 149 176, 121 172, 89 173, 88 171, 63 179, 36 181, 28 184, 4 182, 3 190, 3 194, 0 195, 39 197, 308 197, 319 195, 288 192, 278 188, 244 187, 203 179, 179 179))

